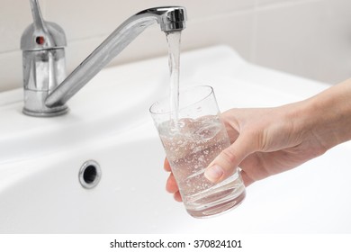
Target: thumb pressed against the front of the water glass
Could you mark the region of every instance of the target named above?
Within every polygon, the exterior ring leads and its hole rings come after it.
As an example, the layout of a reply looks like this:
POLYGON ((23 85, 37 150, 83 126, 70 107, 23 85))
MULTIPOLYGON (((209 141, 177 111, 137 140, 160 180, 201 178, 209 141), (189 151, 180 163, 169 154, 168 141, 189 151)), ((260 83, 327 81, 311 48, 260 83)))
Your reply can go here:
POLYGON ((253 143, 239 136, 236 141, 220 152, 206 168, 204 176, 212 183, 218 183, 232 175, 241 161, 255 150, 253 143))

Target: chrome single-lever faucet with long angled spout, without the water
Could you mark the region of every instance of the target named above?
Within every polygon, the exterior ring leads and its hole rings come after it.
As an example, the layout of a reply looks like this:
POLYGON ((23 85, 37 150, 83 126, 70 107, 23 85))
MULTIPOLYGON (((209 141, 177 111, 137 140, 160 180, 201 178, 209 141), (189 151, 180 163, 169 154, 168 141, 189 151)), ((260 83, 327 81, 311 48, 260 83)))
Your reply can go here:
POLYGON ((91 80, 149 25, 159 23, 165 32, 185 28, 184 7, 150 8, 132 15, 66 76, 65 32, 43 20, 37 0, 31 0, 34 22, 23 32, 23 113, 49 117, 67 112, 67 100, 91 80))

